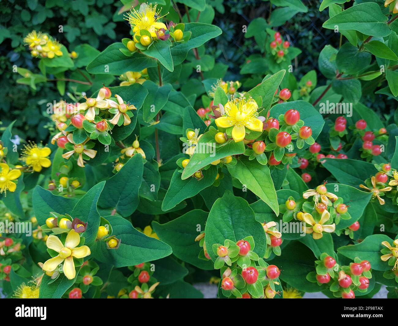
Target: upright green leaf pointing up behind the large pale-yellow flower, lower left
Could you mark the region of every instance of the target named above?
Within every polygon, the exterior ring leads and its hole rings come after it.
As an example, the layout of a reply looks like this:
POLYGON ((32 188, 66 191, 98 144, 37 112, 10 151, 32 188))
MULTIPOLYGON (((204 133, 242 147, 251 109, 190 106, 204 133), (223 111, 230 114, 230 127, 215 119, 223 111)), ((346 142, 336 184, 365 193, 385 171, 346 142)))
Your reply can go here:
MULTIPOLYGON (((101 191, 103 191, 105 181, 97 183, 76 203, 73 208, 71 216, 77 217, 83 222, 87 222, 86 231, 83 236, 86 239, 86 245, 90 246, 96 239, 98 228, 100 227, 100 214, 97 210, 97 202, 100 198, 101 191)), ((57 212, 64 214, 63 212, 57 212)))

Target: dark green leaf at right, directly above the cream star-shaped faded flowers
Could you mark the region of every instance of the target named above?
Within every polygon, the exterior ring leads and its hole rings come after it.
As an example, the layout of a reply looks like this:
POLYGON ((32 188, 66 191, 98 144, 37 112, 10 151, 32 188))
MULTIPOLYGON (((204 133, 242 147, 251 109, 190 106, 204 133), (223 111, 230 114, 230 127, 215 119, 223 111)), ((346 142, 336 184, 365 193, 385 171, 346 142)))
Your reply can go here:
POLYGON ((377 173, 375 166, 360 160, 325 158, 322 164, 340 183, 359 187, 367 178, 377 173))

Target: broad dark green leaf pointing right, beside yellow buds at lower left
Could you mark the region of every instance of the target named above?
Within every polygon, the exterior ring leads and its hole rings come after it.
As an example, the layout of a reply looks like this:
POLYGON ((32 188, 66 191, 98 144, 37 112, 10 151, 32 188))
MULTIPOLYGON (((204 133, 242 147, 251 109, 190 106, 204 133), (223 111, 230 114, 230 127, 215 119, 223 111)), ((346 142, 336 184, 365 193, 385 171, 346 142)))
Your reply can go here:
POLYGON ((146 236, 136 230, 133 225, 120 216, 105 216, 112 226, 112 235, 121 240, 117 249, 108 249, 105 241, 96 241, 92 247, 92 255, 115 267, 124 267, 151 262, 169 256, 172 248, 155 238, 146 236))

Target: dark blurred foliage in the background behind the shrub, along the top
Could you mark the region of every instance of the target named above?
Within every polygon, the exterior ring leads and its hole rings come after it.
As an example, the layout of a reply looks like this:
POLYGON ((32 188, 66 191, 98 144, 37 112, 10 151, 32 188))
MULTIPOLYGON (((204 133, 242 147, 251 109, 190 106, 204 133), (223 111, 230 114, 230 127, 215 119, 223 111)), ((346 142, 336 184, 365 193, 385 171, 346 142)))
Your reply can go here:
MULTIPOLYGON (((283 2, 275 1, 272 2, 283 2)), ((242 29, 259 17, 272 21, 274 26, 280 25, 274 27, 275 31, 280 31, 291 45, 301 49, 302 53, 293 62, 297 80, 308 71, 317 70, 320 51, 326 44, 338 47, 339 36, 332 30, 322 29, 322 23, 328 19, 328 10, 320 12, 319 1, 302 2, 308 12, 278 8, 269 1, 207 0, 212 7, 209 11, 214 12, 213 24, 223 33, 206 44, 206 51, 216 58, 216 63, 228 67, 224 80, 247 78, 239 74, 240 67, 247 57, 260 53, 261 49, 255 38, 245 38, 242 29)), ((37 84, 36 91, 16 83, 20 75, 13 72, 15 66, 39 73, 37 59, 32 58, 23 45, 23 37, 35 29, 55 37, 69 52, 81 43, 89 43, 102 51, 109 44, 129 36, 129 25, 122 15, 118 15, 122 3, 119 0, 3 0, 1 4, 0 130, 16 119, 14 128, 18 129, 22 139, 48 139, 47 126, 50 124, 45 113, 46 104, 61 98, 54 82, 37 84)), ((183 4, 179 3, 178 7, 184 15, 183 4)), ((318 73, 318 85, 325 83, 325 78, 318 73)), ((373 105, 382 109, 385 104, 380 100, 373 105)))

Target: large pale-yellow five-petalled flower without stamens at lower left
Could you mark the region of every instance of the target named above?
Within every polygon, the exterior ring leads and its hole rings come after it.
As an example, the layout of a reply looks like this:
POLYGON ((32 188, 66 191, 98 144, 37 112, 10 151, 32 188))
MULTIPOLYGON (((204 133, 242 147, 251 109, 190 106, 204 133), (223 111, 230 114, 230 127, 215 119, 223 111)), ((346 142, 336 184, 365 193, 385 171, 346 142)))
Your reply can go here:
POLYGON ((65 245, 55 235, 47 238, 47 248, 58 252, 58 256, 50 258, 43 265, 43 270, 51 272, 57 269, 59 264, 63 264, 63 271, 68 279, 74 279, 76 276, 76 269, 74 267, 73 257, 84 258, 91 254, 88 246, 77 247, 80 242, 80 235, 75 230, 70 230, 66 236, 65 245), (77 248, 76 248, 77 247, 77 248))

